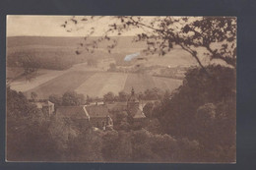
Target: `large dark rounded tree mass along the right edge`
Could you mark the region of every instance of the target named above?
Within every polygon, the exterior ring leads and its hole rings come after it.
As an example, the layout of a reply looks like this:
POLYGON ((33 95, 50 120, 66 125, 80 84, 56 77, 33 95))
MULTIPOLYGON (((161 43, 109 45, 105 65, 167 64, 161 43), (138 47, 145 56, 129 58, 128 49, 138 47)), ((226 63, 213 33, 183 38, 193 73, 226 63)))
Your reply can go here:
POLYGON ((165 133, 197 140, 204 148, 202 161, 233 161, 235 71, 221 66, 206 70, 210 77, 199 68, 188 71, 183 85, 160 104, 158 118, 165 133))

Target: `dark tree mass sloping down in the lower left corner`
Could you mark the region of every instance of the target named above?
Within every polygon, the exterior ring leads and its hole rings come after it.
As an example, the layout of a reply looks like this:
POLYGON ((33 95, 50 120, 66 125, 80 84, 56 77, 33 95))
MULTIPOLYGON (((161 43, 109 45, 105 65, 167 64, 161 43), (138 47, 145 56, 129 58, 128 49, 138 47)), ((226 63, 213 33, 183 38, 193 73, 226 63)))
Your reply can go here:
POLYGON ((49 118, 23 93, 7 88, 7 160, 49 161, 58 157, 49 118))

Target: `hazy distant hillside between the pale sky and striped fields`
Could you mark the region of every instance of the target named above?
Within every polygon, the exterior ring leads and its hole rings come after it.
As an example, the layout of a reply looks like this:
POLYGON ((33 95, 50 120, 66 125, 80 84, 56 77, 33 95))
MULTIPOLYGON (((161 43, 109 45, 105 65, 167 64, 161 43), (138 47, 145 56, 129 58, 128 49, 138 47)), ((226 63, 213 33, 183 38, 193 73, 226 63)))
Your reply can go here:
MULTIPOLYGON (((7 37, 7 63, 9 66, 16 66, 17 61, 21 56, 30 55, 35 60, 41 63, 41 68, 62 70, 70 68, 72 65, 87 62, 88 59, 96 59, 101 62, 101 59, 110 59, 115 61, 117 65, 138 65, 138 62, 124 62, 124 57, 128 54, 141 52, 146 49, 146 42, 133 42, 133 36, 115 36, 111 37, 117 41, 117 46, 108 53, 106 46, 109 41, 105 40, 98 44, 95 52, 89 53, 84 51, 80 55, 76 54, 76 50, 81 49, 80 43, 89 43, 99 37, 90 37, 86 41, 84 37, 42 37, 42 36, 14 36, 7 37), (126 64, 127 63, 127 64, 126 64)), ((145 61, 140 61, 147 67, 160 66, 190 66, 194 65, 194 59, 180 48, 174 48, 164 56, 145 55, 141 53, 141 57, 147 58, 145 61)), ((109 62, 103 64, 109 65, 109 62)), ((101 66, 99 66, 101 67, 101 66)))

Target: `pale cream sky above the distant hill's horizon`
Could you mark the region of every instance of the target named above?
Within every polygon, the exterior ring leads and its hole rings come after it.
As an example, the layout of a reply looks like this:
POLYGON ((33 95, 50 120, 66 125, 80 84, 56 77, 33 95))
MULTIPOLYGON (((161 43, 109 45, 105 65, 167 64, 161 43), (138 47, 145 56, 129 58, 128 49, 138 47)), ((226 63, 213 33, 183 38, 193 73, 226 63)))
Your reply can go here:
MULTIPOLYGON (((67 32, 65 28, 61 27, 65 21, 71 19, 72 16, 7 16, 7 36, 85 36, 87 30, 91 27, 96 28, 95 36, 101 35, 101 33, 107 28, 107 26, 114 21, 110 17, 104 17, 98 22, 79 26, 79 30, 73 30, 67 32)), ((148 17, 151 18, 151 17, 148 17)), ((123 35, 135 35, 138 30, 127 31, 123 35)))

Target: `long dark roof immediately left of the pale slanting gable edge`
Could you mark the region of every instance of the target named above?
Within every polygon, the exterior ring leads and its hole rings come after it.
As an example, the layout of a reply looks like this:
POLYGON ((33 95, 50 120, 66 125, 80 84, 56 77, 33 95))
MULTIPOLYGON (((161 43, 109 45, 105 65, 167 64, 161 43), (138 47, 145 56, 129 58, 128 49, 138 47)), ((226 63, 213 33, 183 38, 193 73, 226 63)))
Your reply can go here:
POLYGON ((60 106, 56 115, 60 117, 73 117, 77 119, 90 119, 85 106, 60 106))

